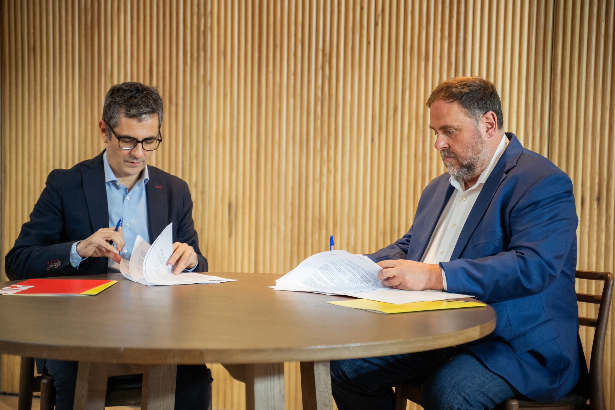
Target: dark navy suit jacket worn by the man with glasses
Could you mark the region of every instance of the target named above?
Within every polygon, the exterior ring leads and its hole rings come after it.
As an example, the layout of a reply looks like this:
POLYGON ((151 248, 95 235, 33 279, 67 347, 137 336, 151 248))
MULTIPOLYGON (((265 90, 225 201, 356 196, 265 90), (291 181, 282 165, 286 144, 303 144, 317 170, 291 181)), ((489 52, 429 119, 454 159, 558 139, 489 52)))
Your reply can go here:
MULTIPOLYGON (((109 227, 103 152, 68 170, 49 173, 30 221, 23 224, 15 245, 6 255, 9 278, 106 274, 107 258, 87 258, 78 269, 69 261, 74 242, 109 227), (60 261, 60 266, 47 270, 47 264, 53 261, 60 261)), ((173 242, 192 246, 199 259, 197 270, 206 272, 207 259, 200 254, 199 239, 194 231, 188 184, 158 168, 148 168, 145 192, 149 243, 172 222, 173 242)))

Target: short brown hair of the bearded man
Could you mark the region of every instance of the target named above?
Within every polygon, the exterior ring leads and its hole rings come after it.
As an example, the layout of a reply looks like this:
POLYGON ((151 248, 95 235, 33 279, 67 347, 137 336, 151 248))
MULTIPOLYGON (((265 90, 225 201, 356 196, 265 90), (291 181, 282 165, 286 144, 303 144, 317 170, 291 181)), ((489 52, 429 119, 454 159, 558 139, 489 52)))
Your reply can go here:
POLYGON ((453 103, 458 101, 467 116, 476 122, 489 111, 493 111, 498 119, 498 129, 504 126, 502 103, 498 90, 493 82, 481 77, 455 77, 441 82, 427 100, 427 107, 435 101, 453 103))

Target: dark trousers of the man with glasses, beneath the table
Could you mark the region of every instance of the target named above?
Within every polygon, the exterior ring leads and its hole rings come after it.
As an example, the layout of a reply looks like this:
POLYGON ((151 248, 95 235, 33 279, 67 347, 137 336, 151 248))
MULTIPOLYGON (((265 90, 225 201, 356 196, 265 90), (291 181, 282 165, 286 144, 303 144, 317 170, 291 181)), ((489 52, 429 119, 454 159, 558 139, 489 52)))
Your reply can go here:
MULTIPOLYGON (((47 360, 45 369, 49 376, 55 379, 55 410, 72 410, 77 383, 77 362, 47 360)), ((178 365, 175 410, 207 410, 212 402, 212 382, 212 373, 207 366, 178 365)))

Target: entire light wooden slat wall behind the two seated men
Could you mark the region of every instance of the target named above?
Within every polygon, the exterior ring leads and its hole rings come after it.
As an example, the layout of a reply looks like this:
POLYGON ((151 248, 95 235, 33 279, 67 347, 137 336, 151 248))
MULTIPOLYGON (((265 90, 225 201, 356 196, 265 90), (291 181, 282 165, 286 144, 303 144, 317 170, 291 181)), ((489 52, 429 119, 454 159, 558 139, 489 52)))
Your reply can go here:
MULTIPOLYGON (((407 231, 444 170, 429 93, 478 75, 498 87, 504 128, 573 178, 579 267, 614 270, 613 0, 0 7, 3 255, 47 173, 103 149, 103 100, 122 81, 160 89, 164 142, 151 164, 188 181, 210 269, 282 275, 327 250, 329 234, 338 249, 375 251, 407 231)), ((2 390, 17 390, 16 363, 5 357, 2 390)), ((297 367, 288 408, 300 408, 297 367)), ((243 408, 242 385, 214 371, 215 408, 243 408)))

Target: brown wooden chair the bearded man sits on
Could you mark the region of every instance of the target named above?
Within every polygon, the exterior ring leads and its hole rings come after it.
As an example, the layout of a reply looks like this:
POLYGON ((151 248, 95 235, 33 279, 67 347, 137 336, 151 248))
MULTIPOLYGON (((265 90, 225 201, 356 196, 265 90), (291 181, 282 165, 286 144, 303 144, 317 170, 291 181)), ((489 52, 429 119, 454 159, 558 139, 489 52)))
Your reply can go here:
MULTIPOLYGON (((568 393, 557 403, 542 404, 519 396, 498 404, 496 409, 606 410, 603 357, 605 352, 606 326, 609 321, 609 309, 611 308, 611 298, 613 297, 613 275, 610 272, 577 270, 575 276, 579 279, 603 280, 605 282, 600 295, 577 293, 577 301, 600 305, 597 318, 579 317, 579 325, 590 326, 596 329, 593 336, 592 357, 589 362, 589 398, 580 395, 573 389, 572 392, 568 393), (588 399, 589 404, 587 403, 588 399)), ((395 410, 405 410, 407 400, 413 401, 416 404, 423 403, 423 393, 421 392, 420 384, 403 384, 395 387, 395 410)))

